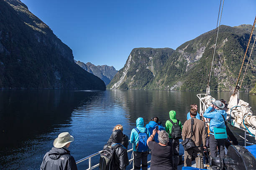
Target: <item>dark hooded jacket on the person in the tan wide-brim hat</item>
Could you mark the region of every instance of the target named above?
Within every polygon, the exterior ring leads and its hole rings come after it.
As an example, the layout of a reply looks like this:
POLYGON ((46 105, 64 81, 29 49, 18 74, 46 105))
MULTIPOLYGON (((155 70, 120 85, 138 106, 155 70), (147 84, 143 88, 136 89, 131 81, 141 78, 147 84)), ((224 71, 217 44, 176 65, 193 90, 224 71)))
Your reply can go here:
POLYGON ((77 164, 65 148, 51 148, 44 155, 40 170, 77 170, 77 164))

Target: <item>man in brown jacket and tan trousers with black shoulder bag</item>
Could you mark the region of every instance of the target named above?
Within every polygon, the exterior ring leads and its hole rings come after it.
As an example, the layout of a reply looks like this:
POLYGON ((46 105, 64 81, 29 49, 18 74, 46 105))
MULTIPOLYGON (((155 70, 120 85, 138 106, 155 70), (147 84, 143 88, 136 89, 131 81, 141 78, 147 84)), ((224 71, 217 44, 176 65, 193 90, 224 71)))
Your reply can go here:
MULTIPOLYGON (((182 128, 182 139, 183 141, 191 141, 194 144, 193 148, 185 149, 184 153, 184 167, 190 167, 191 166, 191 160, 192 160, 192 154, 195 154, 195 159, 196 159, 196 165, 197 168, 203 168, 203 160, 202 158, 199 158, 197 156, 198 153, 202 153, 203 149, 206 149, 206 137, 207 133, 205 131, 205 125, 202 120, 199 120, 196 118, 197 115, 197 110, 191 109, 190 110, 190 116, 191 119, 187 120, 184 122, 183 128, 182 128), (189 139, 190 138, 190 139, 189 139), (200 159, 201 165, 198 164, 198 161, 200 159)), ((189 142, 188 142, 189 143, 189 142)), ((185 143, 188 144, 188 143, 185 143)), ((191 144, 191 143, 190 143, 191 144)), ((183 143, 182 143, 183 145, 183 143)))

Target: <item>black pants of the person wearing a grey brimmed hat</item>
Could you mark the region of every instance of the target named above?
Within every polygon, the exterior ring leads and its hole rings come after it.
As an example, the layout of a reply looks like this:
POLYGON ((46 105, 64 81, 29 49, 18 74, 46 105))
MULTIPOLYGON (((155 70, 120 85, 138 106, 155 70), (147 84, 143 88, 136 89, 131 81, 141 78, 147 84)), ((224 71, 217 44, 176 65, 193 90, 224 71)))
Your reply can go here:
POLYGON ((214 135, 210 134, 210 153, 211 157, 217 157, 217 146, 220 150, 221 158, 225 156, 225 139, 215 139, 214 135))

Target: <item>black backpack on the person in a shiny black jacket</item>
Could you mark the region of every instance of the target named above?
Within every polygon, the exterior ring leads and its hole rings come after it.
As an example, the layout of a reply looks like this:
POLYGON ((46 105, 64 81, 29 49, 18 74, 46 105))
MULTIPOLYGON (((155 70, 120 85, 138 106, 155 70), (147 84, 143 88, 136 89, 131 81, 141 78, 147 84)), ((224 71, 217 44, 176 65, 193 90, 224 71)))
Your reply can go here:
POLYGON ((113 170, 113 166, 115 164, 115 150, 119 146, 122 145, 120 143, 116 143, 102 150, 100 153, 99 170, 113 170))

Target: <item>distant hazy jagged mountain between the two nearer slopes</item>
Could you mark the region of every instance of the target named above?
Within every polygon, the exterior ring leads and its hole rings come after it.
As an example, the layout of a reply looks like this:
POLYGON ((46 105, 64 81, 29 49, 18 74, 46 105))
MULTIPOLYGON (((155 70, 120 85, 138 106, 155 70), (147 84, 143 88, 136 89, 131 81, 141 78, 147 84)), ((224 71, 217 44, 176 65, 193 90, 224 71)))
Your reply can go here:
POLYGON ((105 82, 105 85, 108 85, 110 81, 113 79, 115 74, 117 73, 117 70, 113 66, 108 65, 93 65, 90 62, 87 62, 84 64, 84 62, 76 61, 80 67, 82 67, 87 72, 90 72, 97 77, 100 77, 101 80, 105 82))

